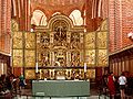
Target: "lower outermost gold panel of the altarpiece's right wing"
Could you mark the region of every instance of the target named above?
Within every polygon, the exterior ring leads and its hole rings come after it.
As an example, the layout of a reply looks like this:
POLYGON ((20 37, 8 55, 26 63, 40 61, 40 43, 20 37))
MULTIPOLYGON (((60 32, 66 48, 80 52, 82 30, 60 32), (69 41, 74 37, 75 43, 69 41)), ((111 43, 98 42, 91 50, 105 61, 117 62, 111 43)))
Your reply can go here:
POLYGON ((108 51, 99 50, 98 51, 98 66, 106 66, 108 65, 108 51))

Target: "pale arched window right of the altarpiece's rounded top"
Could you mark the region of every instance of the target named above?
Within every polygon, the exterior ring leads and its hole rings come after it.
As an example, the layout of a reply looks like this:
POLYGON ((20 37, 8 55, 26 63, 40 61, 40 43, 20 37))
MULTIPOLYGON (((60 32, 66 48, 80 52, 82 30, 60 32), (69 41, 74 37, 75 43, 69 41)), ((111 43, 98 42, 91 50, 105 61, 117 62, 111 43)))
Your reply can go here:
POLYGON ((70 14, 70 19, 73 21, 74 25, 83 25, 83 19, 79 10, 74 10, 70 14))

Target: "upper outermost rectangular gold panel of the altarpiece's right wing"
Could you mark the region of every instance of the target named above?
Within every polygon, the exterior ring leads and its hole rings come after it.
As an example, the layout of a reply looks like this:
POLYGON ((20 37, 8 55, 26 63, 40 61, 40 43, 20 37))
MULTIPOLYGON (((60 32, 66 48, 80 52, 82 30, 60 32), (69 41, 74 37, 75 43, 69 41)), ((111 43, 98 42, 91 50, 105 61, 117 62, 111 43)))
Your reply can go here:
POLYGON ((108 32, 98 32, 98 37, 96 37, 98 48, 106 48, 106 44, 108 44, 106 34, 108 32))

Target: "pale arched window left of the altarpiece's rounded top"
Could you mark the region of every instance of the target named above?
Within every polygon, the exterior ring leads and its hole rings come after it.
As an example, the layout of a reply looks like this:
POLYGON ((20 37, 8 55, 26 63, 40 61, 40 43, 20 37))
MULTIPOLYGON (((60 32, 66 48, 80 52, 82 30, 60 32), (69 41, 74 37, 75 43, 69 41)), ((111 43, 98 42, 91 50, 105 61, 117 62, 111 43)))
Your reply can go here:
POLYGON ((47 25, 47 16, 45 14, 40 11, 40 10, 35 10, 33 12, 33 15, 31 18, 31 24, 34 24, 34 25, 47 25))

